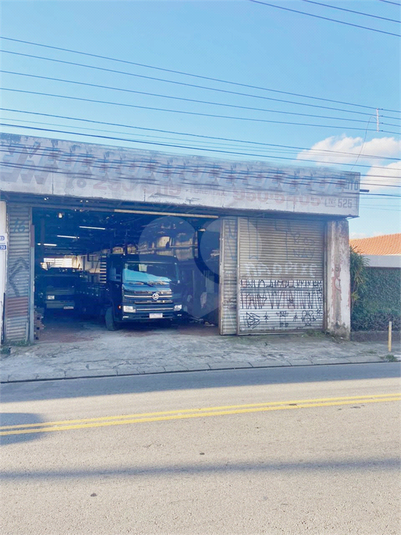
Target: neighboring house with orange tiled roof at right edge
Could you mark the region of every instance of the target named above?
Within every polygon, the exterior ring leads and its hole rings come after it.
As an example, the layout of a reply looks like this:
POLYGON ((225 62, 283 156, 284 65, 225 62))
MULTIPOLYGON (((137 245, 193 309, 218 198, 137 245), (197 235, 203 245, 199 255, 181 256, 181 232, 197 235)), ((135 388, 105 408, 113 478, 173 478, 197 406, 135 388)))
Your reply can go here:
POLYGON ((401 268, 401 233, 350 240, 350 245, 369 267, 401 268))

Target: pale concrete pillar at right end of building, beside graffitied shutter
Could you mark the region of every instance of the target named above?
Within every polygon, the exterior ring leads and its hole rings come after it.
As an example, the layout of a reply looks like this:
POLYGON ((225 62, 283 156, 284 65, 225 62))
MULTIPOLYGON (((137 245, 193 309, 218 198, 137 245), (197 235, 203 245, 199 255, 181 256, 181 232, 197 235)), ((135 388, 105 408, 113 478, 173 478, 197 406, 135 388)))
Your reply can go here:
POLYGON ((351 332, 351 288, 346 219, 327 224, 326 281, 326 330, 348 340, 351 332))

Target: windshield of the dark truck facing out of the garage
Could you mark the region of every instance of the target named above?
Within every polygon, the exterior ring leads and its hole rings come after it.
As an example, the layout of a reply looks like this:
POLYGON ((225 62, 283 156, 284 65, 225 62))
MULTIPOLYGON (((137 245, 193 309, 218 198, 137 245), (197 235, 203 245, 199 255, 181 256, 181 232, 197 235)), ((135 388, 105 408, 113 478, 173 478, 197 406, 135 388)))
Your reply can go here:
POLYGON ((162 262, 129 262, 124 265, 123 282, 169 284, 177 280, 177 266, 162 262))

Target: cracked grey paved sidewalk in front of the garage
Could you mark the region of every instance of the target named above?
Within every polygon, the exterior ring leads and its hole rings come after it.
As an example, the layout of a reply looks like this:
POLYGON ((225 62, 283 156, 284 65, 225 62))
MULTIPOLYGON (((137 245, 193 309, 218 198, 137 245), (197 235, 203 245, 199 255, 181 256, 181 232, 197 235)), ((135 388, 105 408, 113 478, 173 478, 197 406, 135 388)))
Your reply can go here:
MULTIPOLYGON (((140 375, 163 372, 383 362, 386 342, 336 341, 322 335, 219 336, 217 328, 133 328, 98 324, 49 330, 29 346, 2 347, 0 381, 140 375)), ((400 360, 400 344, 392 359, 400 360)))

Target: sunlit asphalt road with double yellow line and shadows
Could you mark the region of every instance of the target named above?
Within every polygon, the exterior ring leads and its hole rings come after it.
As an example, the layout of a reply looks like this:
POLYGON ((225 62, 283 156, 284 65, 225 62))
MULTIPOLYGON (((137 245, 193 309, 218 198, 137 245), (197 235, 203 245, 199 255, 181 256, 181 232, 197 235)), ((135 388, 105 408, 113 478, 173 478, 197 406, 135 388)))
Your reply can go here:
POLYGON ((1 533, 399 534, 400 364, 6 384, 1 533))

